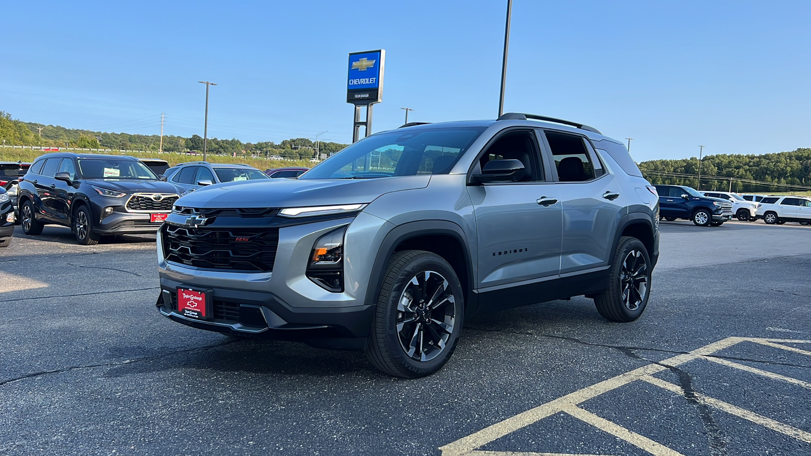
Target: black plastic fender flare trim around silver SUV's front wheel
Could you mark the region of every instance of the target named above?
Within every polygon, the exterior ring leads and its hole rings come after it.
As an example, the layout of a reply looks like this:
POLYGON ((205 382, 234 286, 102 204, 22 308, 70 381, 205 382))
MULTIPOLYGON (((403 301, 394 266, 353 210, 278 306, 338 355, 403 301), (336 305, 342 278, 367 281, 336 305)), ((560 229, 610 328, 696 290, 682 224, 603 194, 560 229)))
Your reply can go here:
POLYGON ((457 239, 462 246, 462 255, 464 255, 464 261, 467 269, 467 289, 464 290, 466 294, 466 309, 468 309, 466 314, 472 315, 470 311, 474 311, 475 308, 471 308, 470 304, 473 304, 475 307, 475 303, 473 302, 474 293, 472 292, 474 288, 474 278, 470 247, 468 247, 468 244, 465 241, 465 231, 461 229, 461 226, 445 220, 420 220, 417 222, 406 222, 402 225, 395 226, 392 230, 388 231, 388 234, 386 234, 384 237, 383 242, 380 243, 377 256, 375 256, 375 264, 371 269, 371 277, 369 277, 369 285, 366 291, 365 303, 367 303, 367 305, 375 305, 377 303, 380 286, 383 285, 383 274, 388 266, 388 261, 392 258, 394 248, 408 239, 418 238, 419 236, 424 236, 427 234, 443 234, 452 236, 453 238, 457 239))

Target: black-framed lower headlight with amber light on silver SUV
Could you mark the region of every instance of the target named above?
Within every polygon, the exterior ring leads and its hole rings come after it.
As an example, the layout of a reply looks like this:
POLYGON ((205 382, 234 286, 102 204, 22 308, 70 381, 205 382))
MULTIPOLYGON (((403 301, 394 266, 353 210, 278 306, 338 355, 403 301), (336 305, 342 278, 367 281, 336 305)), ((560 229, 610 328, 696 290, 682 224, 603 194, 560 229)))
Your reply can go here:
POLYGON ((347 226, 316 240, 307 265, 307 278, 336 293, 344 290, 344 234, 347 226))

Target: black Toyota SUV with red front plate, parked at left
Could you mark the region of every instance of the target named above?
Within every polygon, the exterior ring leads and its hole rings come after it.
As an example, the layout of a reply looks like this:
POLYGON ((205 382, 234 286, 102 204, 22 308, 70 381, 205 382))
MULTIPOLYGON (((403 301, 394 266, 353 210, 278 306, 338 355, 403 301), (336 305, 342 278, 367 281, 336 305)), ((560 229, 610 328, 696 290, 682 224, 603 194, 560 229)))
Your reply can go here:
POLYGON ((103 234, 155 233, 182 194, 134 157, 49 153, 19 179, 19 213, 25 234, 64 225, 93 245, 103 234))

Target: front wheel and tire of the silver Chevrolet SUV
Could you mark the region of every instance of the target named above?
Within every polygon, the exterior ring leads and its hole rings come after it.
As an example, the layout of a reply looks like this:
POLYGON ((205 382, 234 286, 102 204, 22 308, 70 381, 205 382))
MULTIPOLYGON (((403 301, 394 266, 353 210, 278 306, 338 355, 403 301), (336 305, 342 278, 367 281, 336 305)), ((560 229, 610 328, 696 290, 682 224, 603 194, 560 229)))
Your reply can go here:
POLYGON ((421 250, 395 253, 380 287, 367 359, 389 375, 431 375, 456 349, 464 307, 459 279, 444 258, 421 250))

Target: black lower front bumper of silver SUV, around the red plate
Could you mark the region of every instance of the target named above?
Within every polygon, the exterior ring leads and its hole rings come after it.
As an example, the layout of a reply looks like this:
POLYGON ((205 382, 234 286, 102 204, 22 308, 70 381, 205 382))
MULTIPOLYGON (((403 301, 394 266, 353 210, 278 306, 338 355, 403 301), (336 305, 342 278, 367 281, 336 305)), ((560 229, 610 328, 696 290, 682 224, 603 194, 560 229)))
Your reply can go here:
POLYGON ((375 306, 371 305, 293 308, 268 292, 207 287, 213 302, 213 318, 195 320, 178 313, 178 287, 200 289, 161 277, 157 308, 163 316, 193 328, 251 338, 362 350, 375 315, 375 306))

